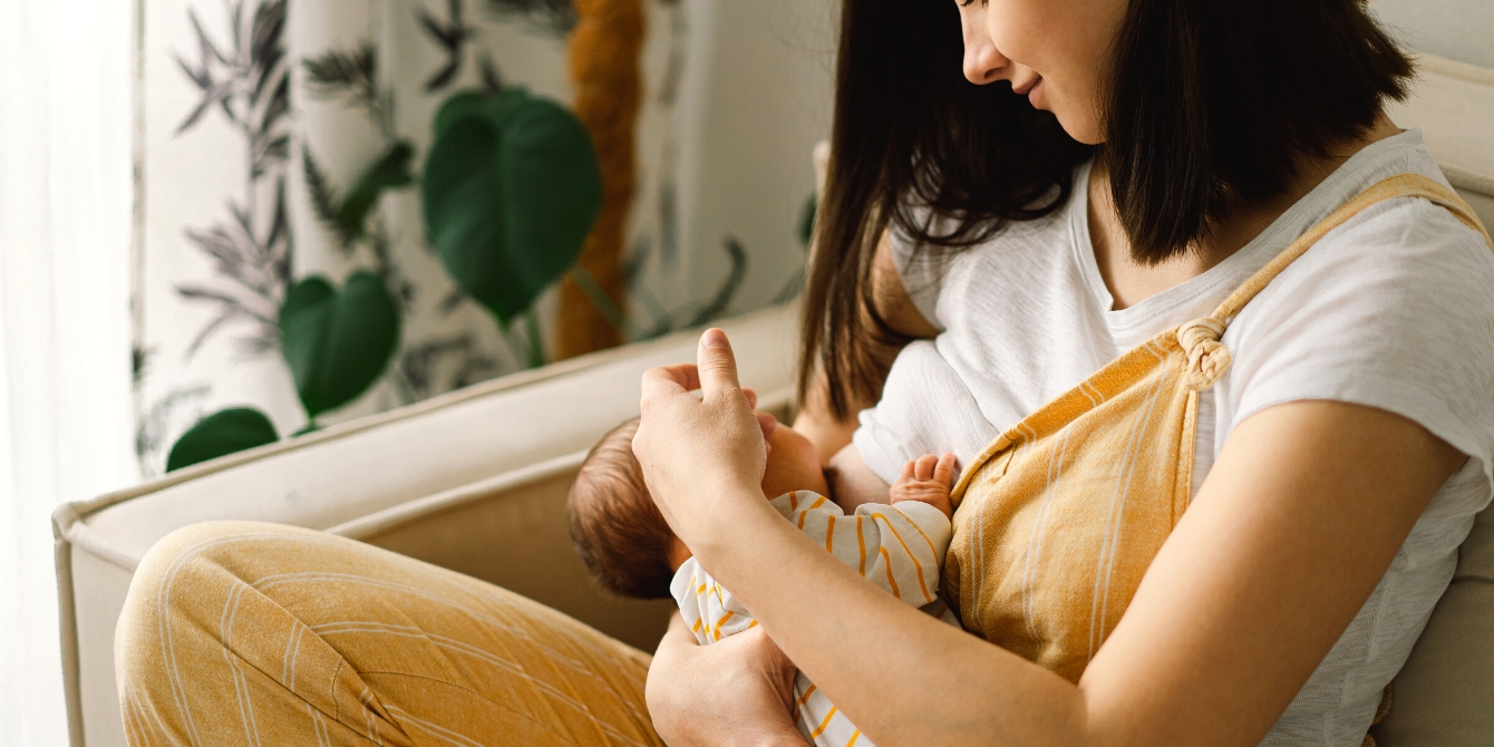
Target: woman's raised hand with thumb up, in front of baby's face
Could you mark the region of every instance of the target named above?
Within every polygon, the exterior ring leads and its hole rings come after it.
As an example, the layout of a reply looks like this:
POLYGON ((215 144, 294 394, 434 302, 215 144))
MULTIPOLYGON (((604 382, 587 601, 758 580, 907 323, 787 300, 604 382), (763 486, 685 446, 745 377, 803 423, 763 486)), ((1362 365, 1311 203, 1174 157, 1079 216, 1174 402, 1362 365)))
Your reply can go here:
POLYGON ((768 511, 760 500, 768 457, 763 430, 775 423, 771 415, 753 415, 725 332, 705 330, 696 360, 644 374, 633 454, 669 527, 699 554, 696 542, 713 520, 731 523, 751 506, 768 511), (695 388, 702 390, 701 399, 690 394, 695 388))

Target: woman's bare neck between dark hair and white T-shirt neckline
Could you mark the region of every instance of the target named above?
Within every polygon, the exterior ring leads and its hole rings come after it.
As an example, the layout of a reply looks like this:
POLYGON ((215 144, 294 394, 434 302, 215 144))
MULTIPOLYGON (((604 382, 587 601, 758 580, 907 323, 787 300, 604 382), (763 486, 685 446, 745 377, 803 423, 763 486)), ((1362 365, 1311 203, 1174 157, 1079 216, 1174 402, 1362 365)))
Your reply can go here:
POLYGON ((1297 178, 1279 197, 1261 203, 1237 205, 1230 215, 1215 224, 1207 239, 1192 251, 1158 264, 1140 263, 1131 254, 1131 241, 1120 226, 1110 196, 1110 178, 1097 161, 1089 173, 1089 239, 1094 244, 1100 276, 1115 300, 1113 309, 1134 306, 1164 290, 1203 275, 1250 244, 1288 208, 1322 184, 1349 157, 1364 146, 1392 137, 1397 128, 1383 114, 1364 134, 1346 140, 1330 157, 1304 157, 1297 178))

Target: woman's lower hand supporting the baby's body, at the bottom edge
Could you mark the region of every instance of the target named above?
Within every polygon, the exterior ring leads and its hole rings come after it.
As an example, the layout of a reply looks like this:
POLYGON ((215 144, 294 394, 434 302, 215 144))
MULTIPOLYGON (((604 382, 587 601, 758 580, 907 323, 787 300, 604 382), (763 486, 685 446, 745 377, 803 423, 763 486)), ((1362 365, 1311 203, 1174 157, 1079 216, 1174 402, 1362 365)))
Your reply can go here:
POLYGON ((804 747, 790 717, 795 672, 762 626, 698 645, 674 616, 648 666, 648 716, 674 747, 804 747))

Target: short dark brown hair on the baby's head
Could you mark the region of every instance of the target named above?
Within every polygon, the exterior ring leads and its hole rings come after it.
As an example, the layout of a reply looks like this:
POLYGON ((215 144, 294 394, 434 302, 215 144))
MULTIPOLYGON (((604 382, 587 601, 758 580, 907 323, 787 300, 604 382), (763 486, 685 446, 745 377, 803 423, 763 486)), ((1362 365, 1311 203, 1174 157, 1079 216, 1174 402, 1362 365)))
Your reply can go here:
POLYGON ((638 599, 669 598, 674 532, 648 495, 633 456, 638 418, 614 427, 581 463, 571 486, 571 541, 592 578, 638 599))

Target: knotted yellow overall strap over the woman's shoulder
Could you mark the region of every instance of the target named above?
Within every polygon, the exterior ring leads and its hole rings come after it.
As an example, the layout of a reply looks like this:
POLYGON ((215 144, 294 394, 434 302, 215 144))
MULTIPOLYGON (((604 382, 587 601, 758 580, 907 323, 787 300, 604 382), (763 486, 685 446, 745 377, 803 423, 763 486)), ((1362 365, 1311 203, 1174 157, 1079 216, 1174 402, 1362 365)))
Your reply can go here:
POLYGON ((1446 208, 1464 226, 1479 232, 1484 236, 1484 242, 1494 251, 1494 239, 1490 238, 1484 223, 1469 208, 1469 203, 1463 202, 1452 190, 1419 173, 1401 173, 1380 181, 1360 193, 1358 197, 1346 202, 1312 229, 1307 229, 1307 233, 1298 236, 1270 264, 1261 267, 1250 279, 1236 288, 1212 315, 1177 327, 1177 342, 1182 345, 1183 353, 1188 354, 1188 372, 1185 375, 1188 387, 1203 391, 1219 381, 1225 371, 1230 369, 1230 348, 1224 347, 1219 339, 1224 336, 1230 321, 1245 309, 1246 303, 1250 303, 1277 275, 1330 232, 1343 226, 1366 208, 1397 197, 1422 197, 1446 208))

